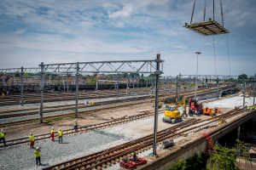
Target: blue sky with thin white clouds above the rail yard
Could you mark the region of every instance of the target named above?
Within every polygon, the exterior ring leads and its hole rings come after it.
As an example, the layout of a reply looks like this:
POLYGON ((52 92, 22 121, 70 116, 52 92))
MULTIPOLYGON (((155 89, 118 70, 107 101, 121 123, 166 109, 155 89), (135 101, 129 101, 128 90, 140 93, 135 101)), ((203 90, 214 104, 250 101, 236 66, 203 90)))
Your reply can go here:
MULTIPOLYGON (((197 0, 193 22, 202 21, 197 0)), ((212 36, 183 28, 192 0, 0 2, 0 68, 93 60, 154 59, 161 54, 165 75, 214 75, 212 36)), ((223 0, 231 75, 256 73, 256 1, 223 0)), ((212 18, 212 0, 206 19, 212 18)), ((215 20, 221 23, 219 1, 215 20)), ((217 74, 229 75, 226 35, 214 36, 217 74)))

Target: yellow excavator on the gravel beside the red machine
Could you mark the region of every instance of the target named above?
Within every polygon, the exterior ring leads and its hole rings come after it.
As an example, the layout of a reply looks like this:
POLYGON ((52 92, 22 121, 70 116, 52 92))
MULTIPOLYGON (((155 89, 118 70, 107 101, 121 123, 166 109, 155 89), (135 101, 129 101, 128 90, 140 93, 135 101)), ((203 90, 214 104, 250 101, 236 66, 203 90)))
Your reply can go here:
POLYGON ((187 101, 187 98, 184 98, 176 106, 166 106, 163 122, 171 122, 171 123, 182 122, 183 117, 186 118, 188 116, 186 111, 186 101, 187 101), (181 116, 180 112, 177 111, 177 108, 182 104, 183 104, 183 115, 181 116))

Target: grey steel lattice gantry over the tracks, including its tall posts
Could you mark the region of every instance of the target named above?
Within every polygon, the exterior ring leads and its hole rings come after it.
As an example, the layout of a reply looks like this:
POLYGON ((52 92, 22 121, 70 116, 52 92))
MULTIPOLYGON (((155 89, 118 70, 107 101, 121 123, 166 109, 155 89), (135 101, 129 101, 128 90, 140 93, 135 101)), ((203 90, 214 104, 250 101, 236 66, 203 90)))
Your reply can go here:
MULTIPOLYGON (((113 60, 113 61, 91 61, 91 62, 77 62, 77 63, 61 63, 61 64, 47 64, 41 62, 37 68, 15 68, 15 69, 1 69, 0 73, 20 73, 21 75, 21 105, 23 96, 23 75, 24 73, 40 74, 41 85, 40 95, 41 104, 39 107, 40 122, 43 122, 43 103, 44 103, 44 75, 45 74, 75 74, 76 76, 76 117, 78 117, 78 92, 79 92, 79 75, 83 73, 143 73, 155 74, 155 111, 154 111, 154 149, 153 154, 156 155, 156 133, 158 122, 158 95, 159 95, 159 78, 163 74, 164 60, 160 59, 160 54, 157 54, 156 59, 143 60, 113 60)), ((134 78, 133 78, 134 80, 134 78)), ((117 79, 117 82, 119 80, 117 79)), ((134 84, 134 81, 133 81, 134 84)), ((118 91, 117 91, 118 93, 118 91)))

